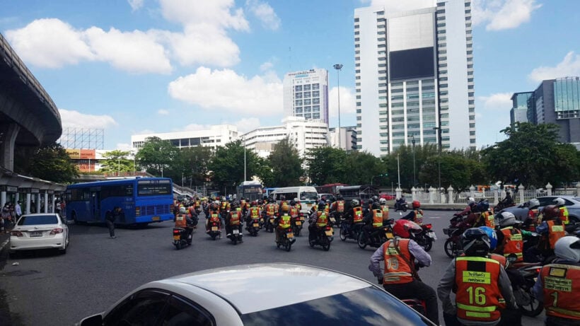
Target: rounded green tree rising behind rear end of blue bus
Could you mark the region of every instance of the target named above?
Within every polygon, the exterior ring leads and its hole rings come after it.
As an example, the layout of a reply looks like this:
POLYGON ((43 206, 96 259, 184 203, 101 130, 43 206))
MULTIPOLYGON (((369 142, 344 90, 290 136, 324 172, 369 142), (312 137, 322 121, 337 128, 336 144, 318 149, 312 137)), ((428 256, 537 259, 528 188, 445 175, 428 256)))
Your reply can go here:
POLYGON ((145 168, 152 175, 163 175, 164 177, 181 177, 179 168, 179 149, 168 140, 159 137, 149 137, 145 139, 145 144, 135 156, 137 164, 145 168))

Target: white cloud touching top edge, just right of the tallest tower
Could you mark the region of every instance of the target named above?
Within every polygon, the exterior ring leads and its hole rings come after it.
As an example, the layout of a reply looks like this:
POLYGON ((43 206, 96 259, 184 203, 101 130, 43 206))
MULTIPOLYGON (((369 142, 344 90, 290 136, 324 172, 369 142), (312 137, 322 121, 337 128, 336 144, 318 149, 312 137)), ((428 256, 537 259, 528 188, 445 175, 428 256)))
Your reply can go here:
POLYGON ((473 24, 485 23, 486 30, 516 28, 530 21, 532 12, 541 6, 536 0, 474 0, 473 24))

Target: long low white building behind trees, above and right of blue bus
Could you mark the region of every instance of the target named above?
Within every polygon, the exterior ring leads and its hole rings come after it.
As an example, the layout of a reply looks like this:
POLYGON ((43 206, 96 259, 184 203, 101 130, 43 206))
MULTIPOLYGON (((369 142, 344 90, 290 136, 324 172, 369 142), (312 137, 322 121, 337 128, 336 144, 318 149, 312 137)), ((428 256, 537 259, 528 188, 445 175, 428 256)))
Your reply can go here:
POLYGON ((149 137, 159 137, 168 140, 175 147, 207 146, 216 149, 226 146, 230 141, 238 139, 238 128, 231 124, 216 124, 207 130, 188 130, 185 132, 166 132, 158 134, 137 134, 131 136, 133 149, 140 149, 149 137))

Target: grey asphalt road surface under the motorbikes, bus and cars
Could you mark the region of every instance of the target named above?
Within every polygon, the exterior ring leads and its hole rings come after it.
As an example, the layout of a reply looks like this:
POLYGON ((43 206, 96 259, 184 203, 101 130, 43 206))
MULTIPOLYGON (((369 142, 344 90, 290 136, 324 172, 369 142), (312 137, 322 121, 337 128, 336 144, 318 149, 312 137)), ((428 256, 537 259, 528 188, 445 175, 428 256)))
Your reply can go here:
MULTIPOLYGON (((398 216, 393 210, 390 214, 398 216)), ((451 215, 451 211, 425 211, 425 223, 433 223, 439 240, 429 252, 434 263, 419 274, 434 288, 451 261, 443 252, 446 235, 442 231, 451 215)), ((306 228, 306 234, 298 237, 292 250, 286 252, 277 249, 274 234, 264 230, 256 238, 245 234, 244 243, 238 245, 225 237, 211 240, 203 231, 196 231, 192 246, 175 250, 173 223, 117 228, 116 239, 109 238, 105 226, 69 227, 71 245, 66 255, 47 250, 11 260, 6 257, 6 250, 2 252, 1 325, 74 325, 148 281, 234 264, 300 262, 376 281, 367 269, 376 248, 361 250, 354 240, 342 242, 337 235, 328 252, 320 246, 310 248, 306 228), (18 265, 13 265, 15 262, 18 265)), ((524 317, 523 325, 543 325, 542 318, 543 314, 538 318, 524 317)))

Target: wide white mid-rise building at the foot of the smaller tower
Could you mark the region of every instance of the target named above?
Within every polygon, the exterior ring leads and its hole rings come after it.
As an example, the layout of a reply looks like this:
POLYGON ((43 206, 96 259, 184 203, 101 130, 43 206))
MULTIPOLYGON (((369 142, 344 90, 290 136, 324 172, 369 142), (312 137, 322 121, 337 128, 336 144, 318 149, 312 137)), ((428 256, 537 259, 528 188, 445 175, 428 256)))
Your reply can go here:
POLYGON ((309 149, 328 145, 327 133, 328 124, 322 120, 286 117, 282 120, 282 125, 257 128, 243 134, 241 139, 246 149, 266 158, 279 141, 289 136, 290 141, 296 145, 298 155, 304 157, 309 149))

